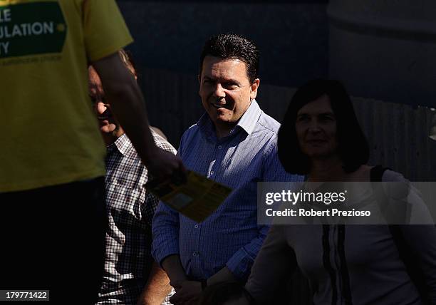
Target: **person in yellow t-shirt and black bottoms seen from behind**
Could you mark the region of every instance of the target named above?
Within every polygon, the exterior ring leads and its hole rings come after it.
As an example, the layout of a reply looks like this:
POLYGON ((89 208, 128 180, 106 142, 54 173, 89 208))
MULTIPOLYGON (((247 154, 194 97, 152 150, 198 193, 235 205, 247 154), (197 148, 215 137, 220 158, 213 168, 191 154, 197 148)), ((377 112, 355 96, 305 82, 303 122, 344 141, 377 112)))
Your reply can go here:
MULTIPOLYGON (((118 50, 131 43, 114 0, 0 1, 0 289, 46 289, 93 304, 103 271, 105 148, 88 96, 100 75, 151 174, 184 171, 157 148, 118 50)), ((39 294, 41 298, 47 296, 39 294)))

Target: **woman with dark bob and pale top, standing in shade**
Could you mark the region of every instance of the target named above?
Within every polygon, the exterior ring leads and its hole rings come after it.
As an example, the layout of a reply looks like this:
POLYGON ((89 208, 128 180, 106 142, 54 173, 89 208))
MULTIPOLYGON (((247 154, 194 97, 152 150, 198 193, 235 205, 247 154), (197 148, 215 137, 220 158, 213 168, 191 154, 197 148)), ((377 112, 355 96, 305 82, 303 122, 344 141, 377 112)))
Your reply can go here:
MULTIPOLYGON (((368 143, 338 81, 319 79, 299 88, 278 143, 285 169, 306 175, 307 182, 405 180, 398 172, 366 165, 368 143)), ((270 304, 276 287, 298 266, 314 304, 436 304, 435 241, 431 225, 274 224, 246 289, 256 304, 270 304), (408 262, 399 236, 411 249, 408 262)))

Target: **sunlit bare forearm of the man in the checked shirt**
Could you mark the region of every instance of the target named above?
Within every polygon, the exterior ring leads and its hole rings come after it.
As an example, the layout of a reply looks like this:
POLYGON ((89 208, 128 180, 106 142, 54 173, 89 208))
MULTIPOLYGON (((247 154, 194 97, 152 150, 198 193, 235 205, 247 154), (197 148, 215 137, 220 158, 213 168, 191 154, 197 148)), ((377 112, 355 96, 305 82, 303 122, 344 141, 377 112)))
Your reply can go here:
POLYGON ((156 262, 153 262, 150 276, 137 300, 137 305, 160 305, 171 289, 170 279, 166 272, 156 262))

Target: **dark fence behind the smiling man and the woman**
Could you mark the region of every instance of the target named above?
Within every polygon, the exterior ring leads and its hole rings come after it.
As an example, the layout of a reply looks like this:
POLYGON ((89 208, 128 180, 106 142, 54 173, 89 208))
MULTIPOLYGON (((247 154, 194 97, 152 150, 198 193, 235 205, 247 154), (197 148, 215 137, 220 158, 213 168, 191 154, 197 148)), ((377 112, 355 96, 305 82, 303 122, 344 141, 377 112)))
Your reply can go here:
MULTIPOLYGON (((204 113, 197 76, 147 69, 140 76, 150 122, 177 148, 182 133, 204 113)), ((281 121, 296 88, 261 83, 256 98, 265 113, 281 121)), ((381 164, 414 181, 436 181, 436 141, 429 135, 429 108, 353 98, 356 115, 370 143, 369 164, 381 164)))

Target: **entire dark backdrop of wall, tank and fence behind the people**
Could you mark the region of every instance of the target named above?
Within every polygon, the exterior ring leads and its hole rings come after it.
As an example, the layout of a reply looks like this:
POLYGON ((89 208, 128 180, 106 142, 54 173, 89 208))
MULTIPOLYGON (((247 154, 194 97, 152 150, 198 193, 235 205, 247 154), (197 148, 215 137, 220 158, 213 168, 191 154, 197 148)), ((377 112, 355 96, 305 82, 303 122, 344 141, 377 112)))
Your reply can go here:
POLYGON ((335 78, 353 95, 370 164, 435 180, 436 1, 118 0, 135 38, 128 46, 150 122, 176 148, 203 113, 199 55, 217 33, 251 38, 261 51, 256 100, 281 121, 297 87, 335 78), (432 123, 432 120, 434 121, 432 123))

